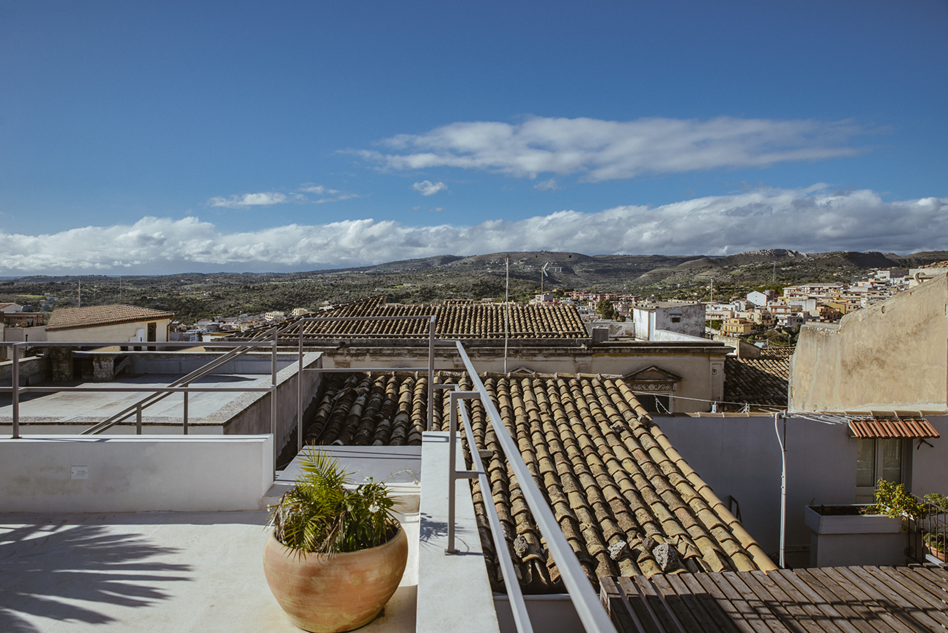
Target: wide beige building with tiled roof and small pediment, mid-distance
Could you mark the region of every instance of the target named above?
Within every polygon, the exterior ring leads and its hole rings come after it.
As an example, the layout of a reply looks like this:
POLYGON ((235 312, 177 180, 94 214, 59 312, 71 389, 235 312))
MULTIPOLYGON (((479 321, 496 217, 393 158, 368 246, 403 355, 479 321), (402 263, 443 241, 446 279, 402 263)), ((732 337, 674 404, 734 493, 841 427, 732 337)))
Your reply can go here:
MULTIPOLYGON (((704 307, 694 309, 700 309, 703 327, 704 307)), ((576 308, 563 304, 511 304, 509 309, 490 304, 403 306, 386 304, 384 295, 375 295, 324 310, 320 316, 384 319, 304 322, 303 348, 322 352, 324 367, 423 367, 428 363, 428 320, 399 318, 422 315, 435 317, 436 339, 463 341, 478 371, 623 376, 648 409, 662 412, 709 411, 712 401, 723 398, 724 358, 731 347, 686 336, 593 342, 576 308)), ((669 313, 668 318, 675 316, 669 313)), ((263 331, 228 338, 246 340, 263 331)), ((299 326, 287 329, 280 340, 295 348, 299 326)), ((454 346, 444 343, 435 346, 435 365, 464 368, 454 346)))

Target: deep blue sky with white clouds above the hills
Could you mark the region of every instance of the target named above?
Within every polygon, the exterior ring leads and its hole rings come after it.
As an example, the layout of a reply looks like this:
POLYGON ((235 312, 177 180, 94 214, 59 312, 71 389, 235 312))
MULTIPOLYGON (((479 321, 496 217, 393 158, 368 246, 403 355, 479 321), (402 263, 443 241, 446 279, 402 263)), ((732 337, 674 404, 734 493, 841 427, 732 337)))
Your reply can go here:
POLYGON ((948 249, 946 26, 943 1, 0 0, 0 274, 948 249))

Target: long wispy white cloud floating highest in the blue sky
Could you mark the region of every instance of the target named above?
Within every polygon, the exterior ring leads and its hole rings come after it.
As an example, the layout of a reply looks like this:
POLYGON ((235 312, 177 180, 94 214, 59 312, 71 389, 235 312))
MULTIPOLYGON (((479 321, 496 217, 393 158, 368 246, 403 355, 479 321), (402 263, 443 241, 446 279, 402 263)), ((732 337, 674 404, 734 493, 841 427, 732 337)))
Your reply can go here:
POLYGON ((850 121, 535 117, 519 124, 450 123, 381 141, 392 153, 354 153, 396 170, 447 166, 530 178, 583 174, 583 180, 596 182, 855 156, 862 150, 842 143, 864 132, 850 121))

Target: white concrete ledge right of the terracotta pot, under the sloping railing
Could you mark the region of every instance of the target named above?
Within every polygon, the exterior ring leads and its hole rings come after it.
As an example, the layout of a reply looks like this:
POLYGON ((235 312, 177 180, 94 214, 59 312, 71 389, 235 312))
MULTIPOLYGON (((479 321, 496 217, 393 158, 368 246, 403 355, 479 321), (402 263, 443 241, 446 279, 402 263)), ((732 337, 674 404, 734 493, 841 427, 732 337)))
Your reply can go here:
MULTIPOLYGON (((420 543, 418 545, 418 633, 499 633, 494 597, 487 580, 481 537, 474 518, 470 484, 456 486, 455 547, 447 548, 447 432, 422 439, 420 543)), ((465 460, 457 442, 458 467, 465 460)), ((538 629, 540 630, 540 629, 538 629)))

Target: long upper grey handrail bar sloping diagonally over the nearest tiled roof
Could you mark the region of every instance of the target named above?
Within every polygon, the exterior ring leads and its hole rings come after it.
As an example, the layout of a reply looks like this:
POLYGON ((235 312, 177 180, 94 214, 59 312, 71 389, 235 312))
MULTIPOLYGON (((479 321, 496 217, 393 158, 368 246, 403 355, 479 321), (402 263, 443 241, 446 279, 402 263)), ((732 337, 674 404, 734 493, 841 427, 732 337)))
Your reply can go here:
MULTIPOLYGON (((467 357, 464 345, 461 344, 460 341, 456 341, 455 344, 457 345, 461 359, 465 363, 467 375, 474 385, 474 390, 481 394, 481 404, 487 414, 487 418, 490 419, 494 427, 494 434, 497 436, 497 441, 501 445, 503 454, 507 457, 510 469, 517 477, 517 482, 520 484, 520 492, 523 493, 523 499, 527 502, 530 512, 533 512, 539 530, 543 538, 546 539, 547 547, 553 554, 554 560, 556 560, 556 568, 559 569, 563 584, 566 585, 566 590, 570 593, 570 598, 573 601, 573 606, 576 609, 579 620, 583 623, 583 627, 588 633, 616 633, 615 626, 612 624, 609 614, 606 612, 606 608, 599 602, 599 597, 593 590, 593 585, 590 584, 589 579, 586 578, 586 573, 583 571, 583 568, 579 565, 579 560, 576 558, 573 548, 570 547, 566 537, 563 536, 563 532, 559 529, 559 524, 556 522, 556 517, 546 502, 546 497, 540 492, 537 482, 534 481, 533 475, 530 474, 527 465, 523 462, 523 458, 520 456, 520 447, 517 446, 517 442, 515 442, 507 432, 507 427, 503 424, 503 419, 497 410, 497 406, 495 406, 494 401, 490 399, 490 395, 484 388, 481 377, 478 376, 477 370, 474 368, 474 364, 471 363, 471 360, 467 357)), ((477 445, 472 446, 472 456, 476 451, 477 445)), ((490 488, 488 487, 486 490, 490 491, 490 488)), ((453 493, 454 487, 452 486, 449 489, 449 494, 453 493)), ((493 500, 491 502, 493 502, 493 500)), ((448 525, 453 525, 454 516, 449 515, 447 520, 448 525)), ((508 591, 511 582, 517 582, 516 576, 508 579, 508 591)))

